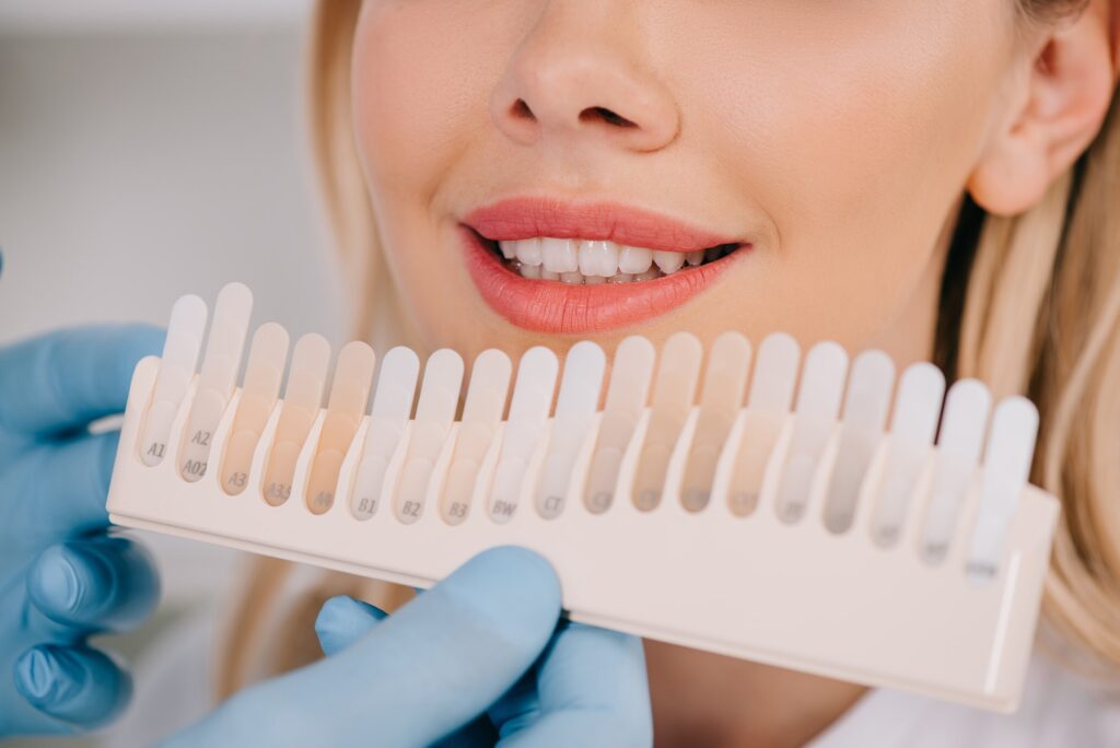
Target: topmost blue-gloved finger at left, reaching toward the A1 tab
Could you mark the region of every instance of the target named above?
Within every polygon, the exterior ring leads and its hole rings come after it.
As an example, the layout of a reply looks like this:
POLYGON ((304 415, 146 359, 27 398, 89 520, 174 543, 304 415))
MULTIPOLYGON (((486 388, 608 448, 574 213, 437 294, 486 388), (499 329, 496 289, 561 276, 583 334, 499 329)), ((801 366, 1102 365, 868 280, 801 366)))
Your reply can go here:
POLYGON ((150 325, 99 325, 0 348, 0 424, 48 437, 122 412, 133 367, 162 342, 150 325))

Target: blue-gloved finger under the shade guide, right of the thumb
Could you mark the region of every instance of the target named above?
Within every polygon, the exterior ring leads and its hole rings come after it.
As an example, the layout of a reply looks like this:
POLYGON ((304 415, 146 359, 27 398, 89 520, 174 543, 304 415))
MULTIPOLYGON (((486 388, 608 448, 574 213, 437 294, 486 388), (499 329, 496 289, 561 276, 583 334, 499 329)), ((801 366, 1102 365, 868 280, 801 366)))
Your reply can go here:
POLYGON ((566 624, 541 657, 535 681, 535 691, 514 690, 489 710, 502 748, 653 744, 640 638, 566 624))

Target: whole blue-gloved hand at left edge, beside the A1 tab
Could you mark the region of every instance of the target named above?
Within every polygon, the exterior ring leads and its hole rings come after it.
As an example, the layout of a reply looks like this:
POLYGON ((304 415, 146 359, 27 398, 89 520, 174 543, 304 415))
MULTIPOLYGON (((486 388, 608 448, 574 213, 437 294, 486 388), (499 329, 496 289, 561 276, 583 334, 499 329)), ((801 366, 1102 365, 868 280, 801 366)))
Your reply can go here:
POLYGON ((131 681, 90 634, 137 625, 159 582, 149 554, 105 534, 132 368, 158 353, 147 326, 69 329, 0 348, 0 738, 114 717, 131 681))

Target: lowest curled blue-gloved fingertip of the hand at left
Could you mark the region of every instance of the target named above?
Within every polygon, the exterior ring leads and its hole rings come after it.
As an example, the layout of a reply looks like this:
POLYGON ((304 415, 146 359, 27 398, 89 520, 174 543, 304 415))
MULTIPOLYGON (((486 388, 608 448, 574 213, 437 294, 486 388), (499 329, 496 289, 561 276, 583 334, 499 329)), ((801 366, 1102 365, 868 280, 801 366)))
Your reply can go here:
POLYGON ((16 661, 16 689, 41 719, 27 731, 65 732, 103 724, 128 704, 132 679, 86 646, 43 644, 16 661))

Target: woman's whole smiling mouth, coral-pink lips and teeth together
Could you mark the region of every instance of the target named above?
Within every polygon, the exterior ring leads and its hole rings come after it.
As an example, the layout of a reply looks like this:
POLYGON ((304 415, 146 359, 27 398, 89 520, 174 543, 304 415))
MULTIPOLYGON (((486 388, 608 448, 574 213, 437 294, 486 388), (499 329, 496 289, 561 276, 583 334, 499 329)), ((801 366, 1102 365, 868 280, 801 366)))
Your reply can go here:
POLYGON ((754 247, 609 202, 510 198, 458 223, 483 300, 524 329, 589 334, 629 327, 703 293, 754 247))

